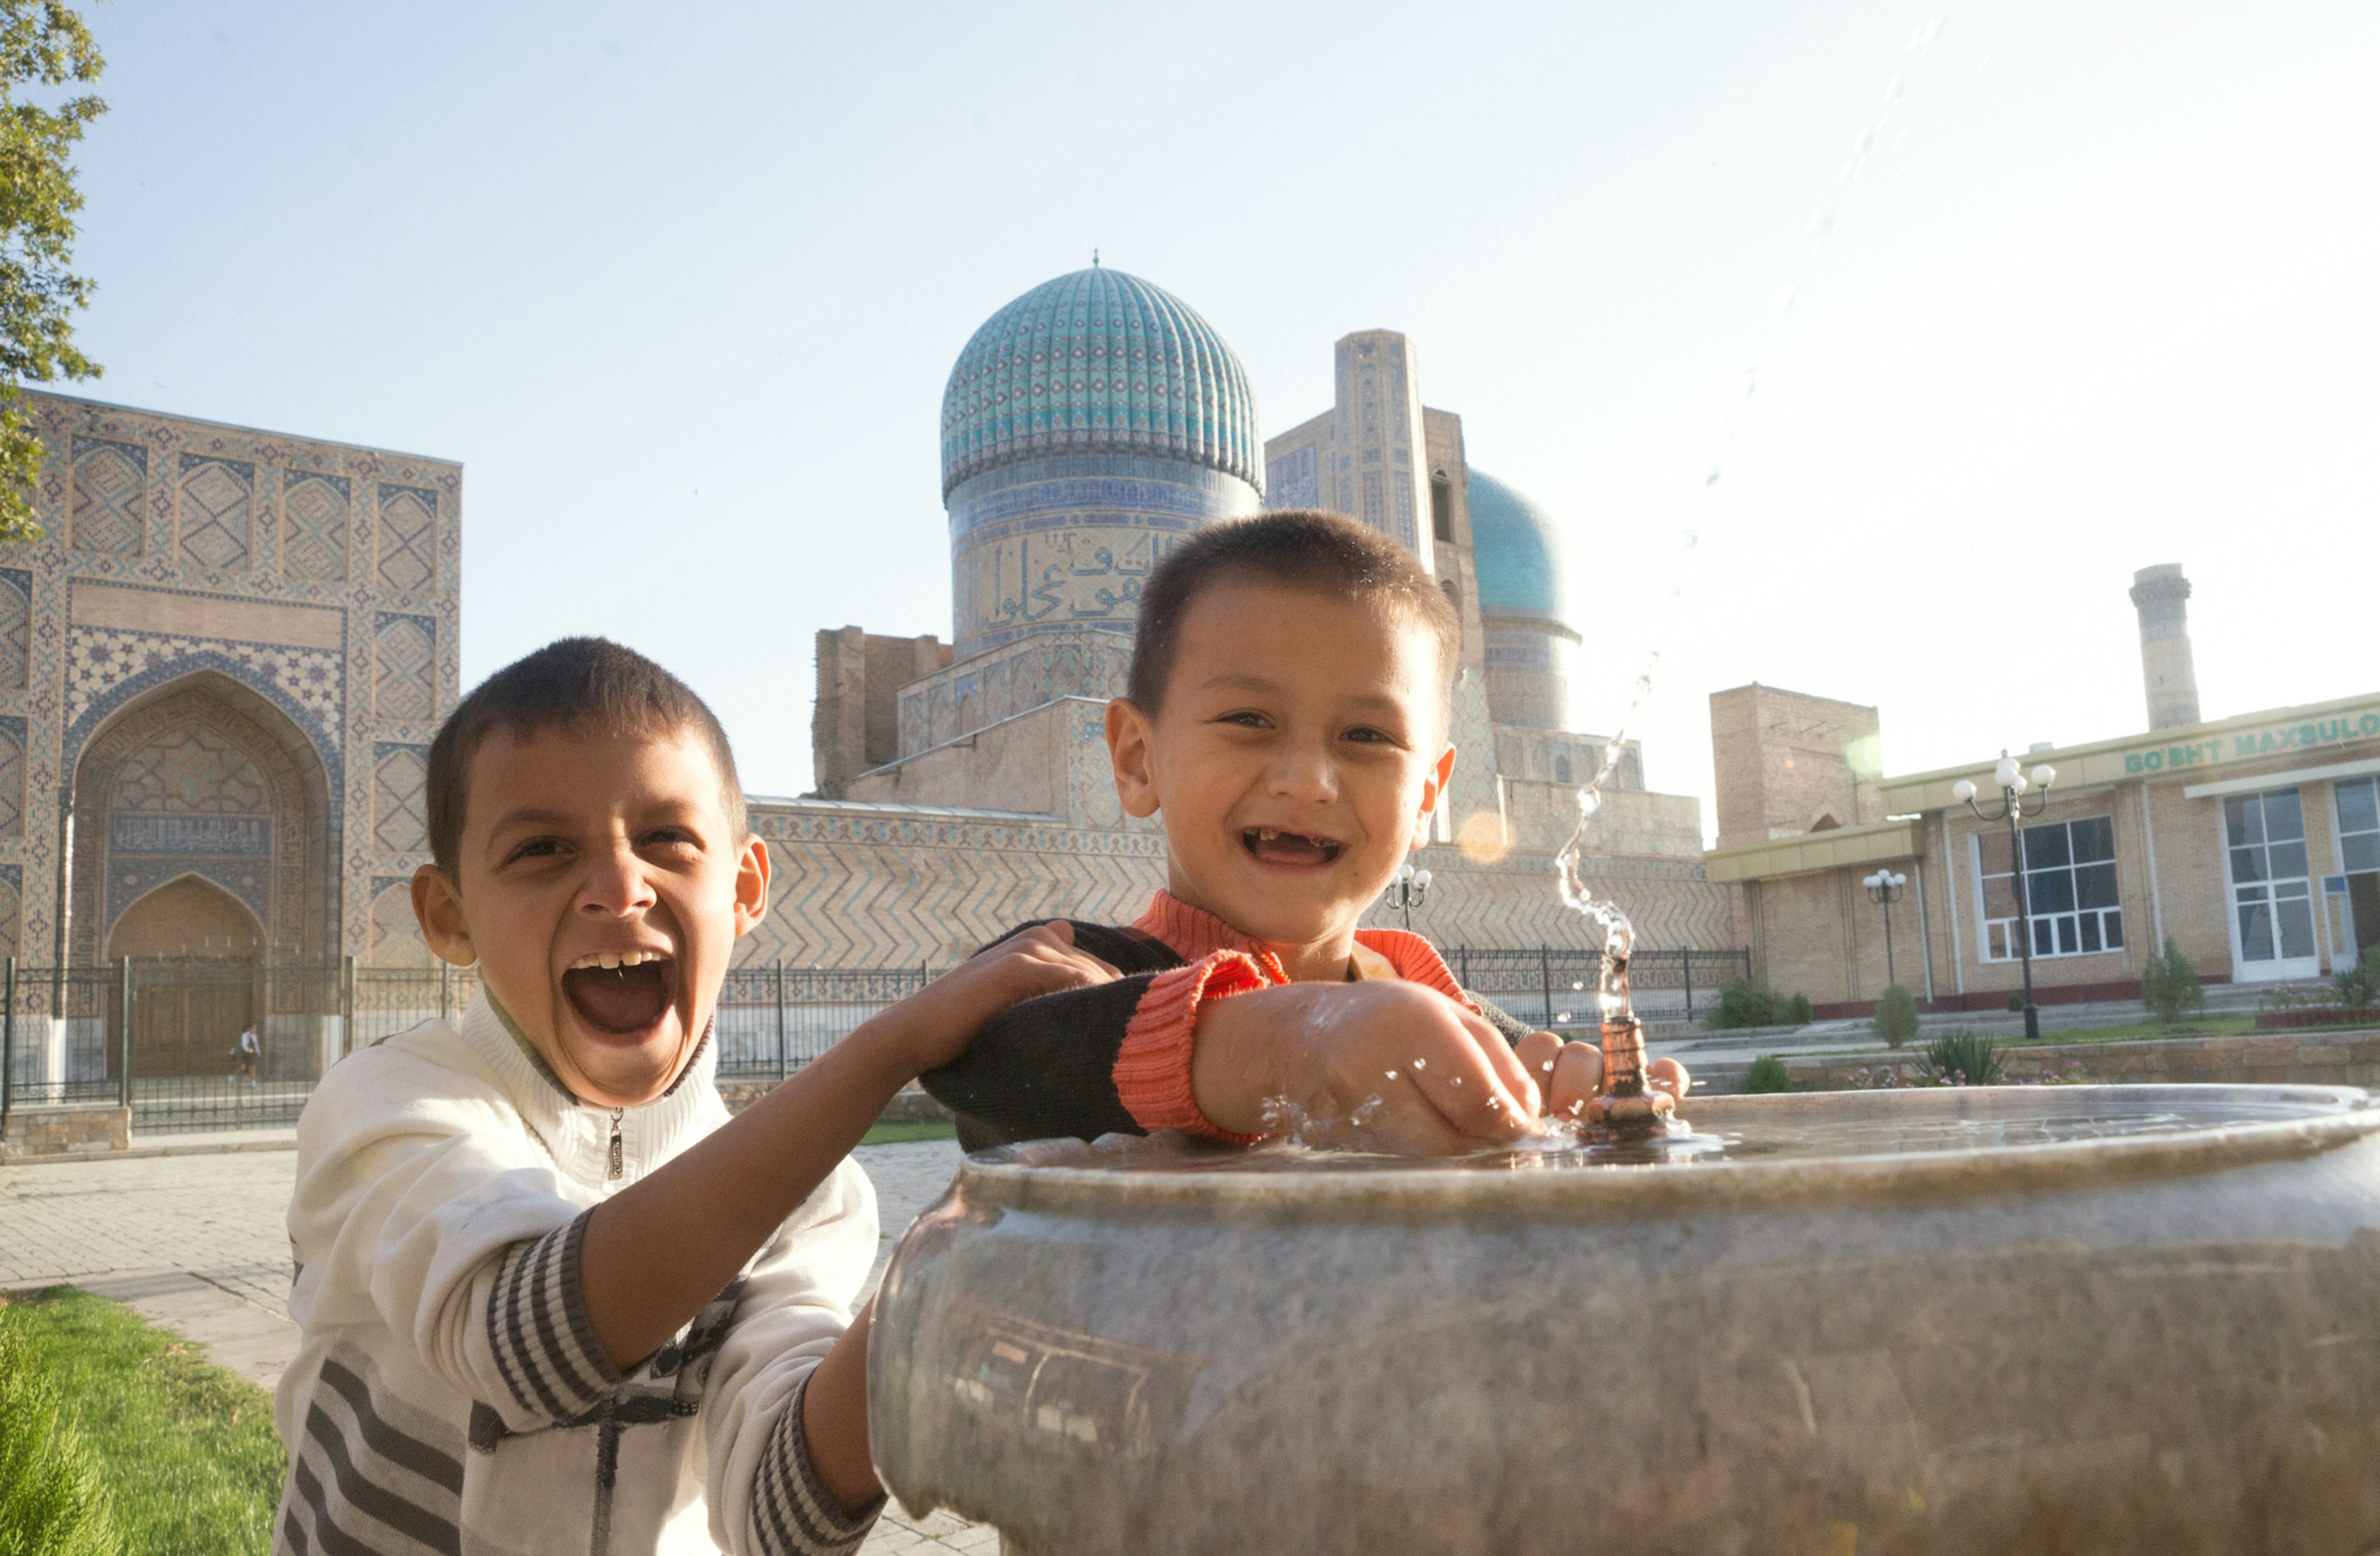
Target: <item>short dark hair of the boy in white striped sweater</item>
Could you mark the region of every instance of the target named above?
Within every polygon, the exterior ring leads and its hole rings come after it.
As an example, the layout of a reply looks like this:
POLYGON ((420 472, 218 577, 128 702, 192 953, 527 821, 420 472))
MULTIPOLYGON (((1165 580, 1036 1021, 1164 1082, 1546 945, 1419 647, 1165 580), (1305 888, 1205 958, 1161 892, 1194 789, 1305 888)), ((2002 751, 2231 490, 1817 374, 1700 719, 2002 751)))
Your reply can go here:
POLYGON ((678 735, 693 730, 719 768, 719 807, 735 842, 745 837, 735 752, 695 690, 609 638, 559 638, 514 659, 471 688, 431 740, 431 859, 447 880, 462 849, 462 811, 471 795, 471 757, 497 730, 600 730, 605 735, 678 735))

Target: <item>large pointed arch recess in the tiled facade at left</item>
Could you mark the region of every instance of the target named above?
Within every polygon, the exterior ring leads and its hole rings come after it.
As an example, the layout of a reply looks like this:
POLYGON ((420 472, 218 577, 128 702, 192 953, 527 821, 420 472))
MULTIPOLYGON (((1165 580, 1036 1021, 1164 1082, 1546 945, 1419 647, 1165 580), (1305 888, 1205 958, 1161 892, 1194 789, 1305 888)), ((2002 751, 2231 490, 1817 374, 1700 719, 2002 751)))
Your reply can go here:
POLYGON ((83 745, 71 859, 74 964, 205 959, 226 935, 257 942, 228 947, 243 959, 336 959, 321 757, 281 709, 217 671, 124 704, 83 745))

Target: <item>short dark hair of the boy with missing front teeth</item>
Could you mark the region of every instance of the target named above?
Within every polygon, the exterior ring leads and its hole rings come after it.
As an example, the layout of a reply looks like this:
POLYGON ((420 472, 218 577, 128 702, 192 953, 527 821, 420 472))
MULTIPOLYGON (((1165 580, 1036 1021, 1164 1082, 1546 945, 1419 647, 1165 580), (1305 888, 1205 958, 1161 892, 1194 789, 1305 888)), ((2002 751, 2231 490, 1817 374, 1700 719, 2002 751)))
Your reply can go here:
POLYGON ((1261 578, 1407 611, 1438 635, 1445 683, 1454 685, 1464 623, 1421 559, 1345 514, 1299 507, 1211 523, 1150 569, 1123 690, 1142 714, 1154 716, 1166 695, 1190 602, 1223 578, 1261 578))

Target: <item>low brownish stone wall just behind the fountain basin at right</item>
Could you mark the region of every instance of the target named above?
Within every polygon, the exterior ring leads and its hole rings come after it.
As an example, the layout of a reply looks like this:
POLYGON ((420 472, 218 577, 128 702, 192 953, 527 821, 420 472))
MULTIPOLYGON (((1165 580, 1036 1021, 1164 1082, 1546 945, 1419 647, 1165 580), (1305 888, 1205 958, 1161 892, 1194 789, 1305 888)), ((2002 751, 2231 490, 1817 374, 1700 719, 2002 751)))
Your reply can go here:
MULTIPOLYGON (((1692 1054, 1685 1056, 1692 1064, 1692 1054)), ((1892 1068, 1902 1080, 1916 1080, 1925 1059, 1923 1044, 1899 1054, 1828 1054, 1785 1059, 1785 1073, 1797 1092, 1840 1092, 1852 1075, 1892 1068)), ((2249 1037, 2159 1037, 2147 1042, 2044 1042, 2040 1047, 2004 1047, 2004 1073, 2033 1078, 2042 1071, 2066 1075, 2080 1064, 2082 1078, 2099 1085, 2361 1085, 2380 1090, 2380 1030, 2349 1033, 2256 1033, 2249 1037)), ((1745 1068, 1695 1068, 1695 1090, 1730 1097, 1745 1090, 1745 1068)))

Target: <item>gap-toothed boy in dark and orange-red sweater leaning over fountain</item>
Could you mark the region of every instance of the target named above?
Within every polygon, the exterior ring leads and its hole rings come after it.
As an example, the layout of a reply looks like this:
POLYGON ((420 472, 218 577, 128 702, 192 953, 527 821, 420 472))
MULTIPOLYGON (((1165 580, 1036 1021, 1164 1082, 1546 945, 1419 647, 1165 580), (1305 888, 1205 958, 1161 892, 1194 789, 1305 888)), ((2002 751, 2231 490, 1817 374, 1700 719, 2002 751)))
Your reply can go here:
MULTIPOLYGON (((1466 995, 1421 935, 1357 928, 1454 771, 1459 635, 1411 552, 1338 514, 1211 526, 1150 573, 1107 749, 1123 809, 1164 818, 1166 887, 1133 926, 1073 923, 1123 978, 1019 1004, 926 1075, 962 1142, 1247 1142, 1276 1099, 1378 1097, 1368 1140, 1459 1152, 1595 1097, 1599 1049, 1466 995)), ((1676 1061, 1649 1080, 1687 1087, 1676 1061)))

